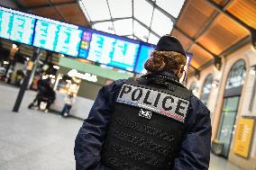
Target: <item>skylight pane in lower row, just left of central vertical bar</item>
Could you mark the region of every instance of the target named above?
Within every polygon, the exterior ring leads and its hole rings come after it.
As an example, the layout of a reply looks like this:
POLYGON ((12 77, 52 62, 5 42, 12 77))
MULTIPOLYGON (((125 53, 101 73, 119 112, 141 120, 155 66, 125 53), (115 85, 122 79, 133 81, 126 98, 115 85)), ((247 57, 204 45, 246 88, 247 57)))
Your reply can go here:
POLYGON ((133 34, 133 19, 118 20, 114 22, 114 31, 117 35, 133 34))

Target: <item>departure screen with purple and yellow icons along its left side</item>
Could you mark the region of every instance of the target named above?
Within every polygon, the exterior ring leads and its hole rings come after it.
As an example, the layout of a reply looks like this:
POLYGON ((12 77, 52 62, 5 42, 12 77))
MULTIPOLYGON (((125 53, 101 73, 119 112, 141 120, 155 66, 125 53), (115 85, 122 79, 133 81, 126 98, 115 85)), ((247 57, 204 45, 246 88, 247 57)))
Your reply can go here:
POLYGON ((133 71, 139 47, 139 42, 121 40, 85 31, 79 57, 107 66, 133 71))

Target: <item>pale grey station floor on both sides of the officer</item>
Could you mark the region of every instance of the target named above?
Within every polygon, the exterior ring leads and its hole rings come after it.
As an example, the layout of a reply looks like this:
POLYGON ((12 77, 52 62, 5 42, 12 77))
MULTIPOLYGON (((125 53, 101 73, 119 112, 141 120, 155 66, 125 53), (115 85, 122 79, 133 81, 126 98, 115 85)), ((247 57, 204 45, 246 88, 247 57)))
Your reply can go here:
MULTIPOLYGON (((72 170, 74 139, 82 121, 28 110, 27 92, 20 112, 11 112, 18 89, 0 84, 0 170, 72 170)), ((210 170, 241 170, 211 157, 210 170)))

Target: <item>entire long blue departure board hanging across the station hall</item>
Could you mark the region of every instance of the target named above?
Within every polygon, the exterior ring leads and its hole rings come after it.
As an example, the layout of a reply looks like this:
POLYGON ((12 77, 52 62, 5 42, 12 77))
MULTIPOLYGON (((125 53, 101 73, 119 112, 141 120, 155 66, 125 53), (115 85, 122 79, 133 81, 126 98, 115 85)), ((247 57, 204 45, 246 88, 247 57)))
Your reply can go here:
POLYGON ((0 38, 142 73, 153 45, 0 6, 0 38))

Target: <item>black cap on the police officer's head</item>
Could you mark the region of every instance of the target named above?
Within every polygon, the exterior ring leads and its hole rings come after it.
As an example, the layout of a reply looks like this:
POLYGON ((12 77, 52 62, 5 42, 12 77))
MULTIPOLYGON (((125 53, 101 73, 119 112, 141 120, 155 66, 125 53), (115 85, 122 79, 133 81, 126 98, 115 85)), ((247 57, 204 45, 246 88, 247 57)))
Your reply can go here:
POLYGON ((185 50, 176 37, 164 35, 160 38, 155 50, 158 51, 175 51, 186 56, 185 50))

